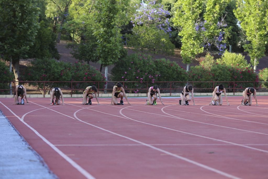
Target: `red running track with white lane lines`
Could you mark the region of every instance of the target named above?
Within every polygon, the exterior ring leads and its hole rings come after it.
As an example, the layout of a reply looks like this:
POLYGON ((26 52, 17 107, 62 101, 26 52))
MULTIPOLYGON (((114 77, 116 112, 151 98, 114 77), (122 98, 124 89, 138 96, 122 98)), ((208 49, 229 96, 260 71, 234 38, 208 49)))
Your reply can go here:
POLYGON ((210 99, 149 106, 145 98, 65 98, 49 106, 48 98, 1 98, 0 106, 59 178, 268 178, 268 96, 258 96, 259 106, 241 106, 241 97, 208 106, 210 99))

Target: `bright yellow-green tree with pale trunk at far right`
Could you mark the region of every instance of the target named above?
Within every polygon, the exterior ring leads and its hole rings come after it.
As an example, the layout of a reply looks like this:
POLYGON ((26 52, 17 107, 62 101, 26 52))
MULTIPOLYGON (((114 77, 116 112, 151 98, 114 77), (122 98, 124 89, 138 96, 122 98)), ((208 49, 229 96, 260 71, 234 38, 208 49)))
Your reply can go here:
POLYGON ((259 64, 259 59, 265 56, 268 42, 268 1, 267 0, 239 0, 235 16, 240 21, 241 28, 250 43, 244 49, 249 52, 250 62, 254 66, 259 64))

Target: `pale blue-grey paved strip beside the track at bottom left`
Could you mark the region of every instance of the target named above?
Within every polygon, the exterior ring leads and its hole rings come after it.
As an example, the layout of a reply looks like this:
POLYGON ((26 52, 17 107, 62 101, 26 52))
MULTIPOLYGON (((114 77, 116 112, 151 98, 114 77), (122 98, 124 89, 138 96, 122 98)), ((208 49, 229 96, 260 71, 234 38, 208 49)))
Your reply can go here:
POLYGON ((1 110, 0 126, 0 178, 58 178, 1 110))

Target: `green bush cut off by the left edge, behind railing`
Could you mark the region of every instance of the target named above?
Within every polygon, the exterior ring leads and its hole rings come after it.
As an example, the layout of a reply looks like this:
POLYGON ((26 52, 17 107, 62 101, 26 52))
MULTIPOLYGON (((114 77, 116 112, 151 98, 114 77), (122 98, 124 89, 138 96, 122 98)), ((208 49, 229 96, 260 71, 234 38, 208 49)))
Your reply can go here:
MULTIPOLYGON (((14 74, 9 71, 9 67, 2 60, 0 60, 0 71, 0 89, 9 89, 9 84, 14 79, 14 74)), ((1 90, 0 94, 9 94, 9 91, 1 90)))

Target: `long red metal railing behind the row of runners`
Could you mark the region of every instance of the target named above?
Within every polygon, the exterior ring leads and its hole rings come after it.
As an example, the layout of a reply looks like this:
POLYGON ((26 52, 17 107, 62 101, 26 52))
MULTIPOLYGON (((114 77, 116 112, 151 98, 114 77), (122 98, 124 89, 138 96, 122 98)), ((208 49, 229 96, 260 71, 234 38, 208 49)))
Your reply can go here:
MULTIPOLYGON (((95 86, 96 83, 98 83, 98 96, 99 96, 99 91, 104 91, 104 90, 112 90, 112 88, 109 88, 109 89, 105 89, 105 88, 101 88, 100 89, 100 83, 113 83, 115 84, 116 82, 115 81, 12 81, 13 83, 13 92, 15 93, 15 88, 16 88, 16 82, 19 82, 19 83, 43 83, 43 89, 35 89, 35 90, 32 90, 32 91, 43 91, 43 95, 45 97, 45 94, 46 94, 46 91, 48 89, 45 88, 45 83, 71 83, 71 87, 70 89, 64 89, 64 88, 61 88, 62 90, 65 90, 65 91, 70 91, 71 93, 71 97, 73 96, 73 91, 78 91, 78 90, 84 90, 84 89, 76 89, 76 88, 73 88, 73 83, 89 83, 90 85, 94 84, 95 86)), ((122 85, 125 86, 127 83, 140 83, 140 82, 137 82, 137 81, 128 81, 128 82, 122 82, 122 85)), ((169 82, 155 82, 155 83, 152 83, 152 82, 143 82, 143 84, 146 83, 146 89, 148 89, 148 85, 155 85, 155 84, 159 84, 159 83, 169 83, 165 86, 169 86, 168 88, 160 88, 161 90, 169 90, 170 91, 170 96, 171 96, 171 93, 172 93, 172 90, 182 90, 183 87, 180 87, 180 88, 172 88, 172 83, 181 83, 183 84, 182 86, 185 86, 186 83, 188 84, 191 84, 194 89, 205 89, 205 90, 213 90, 215 88, 216 85, 220 84, 220 83, 229 83, 229 84, 233 84, 233 87, 225 87, 225 89, 232 89, 233 93, 235 94, 235 91, 236 90, 239 90, 239 89, 245 89, 246 87, 236 87, 235 85, 238 84, 238 83, 253 83, 253 87, 255 89, 262 89, 261 87, 256 87, 255 86, 255 81, 217 81, 217 82, 211 82, 211 81, 189 81, 189 82, 182 82, 182 81, 169 81, 169 82), (212 88, 195 88, 195 83, 212 83, 212 88), (216 84, 216 85, 215 85, 216 84)), ((262 83, 262 82, 257 82, 257 83, 262 83)), ((40 85, 39 85, 40 86, 40 85)), ((57 85, 55 85, 57 86, 57 85)), ((249 87, 249 86, 247 86, 249 87)), ((251 86, 250 86, 251 87, 251 86)), ((124 88, 125 90, 140 90, 140 88, 124 88)), ((10 89, 0 89, 1 91, 3 90, 10 90, 10 89)))

